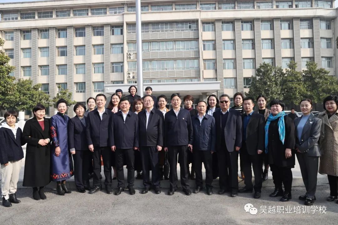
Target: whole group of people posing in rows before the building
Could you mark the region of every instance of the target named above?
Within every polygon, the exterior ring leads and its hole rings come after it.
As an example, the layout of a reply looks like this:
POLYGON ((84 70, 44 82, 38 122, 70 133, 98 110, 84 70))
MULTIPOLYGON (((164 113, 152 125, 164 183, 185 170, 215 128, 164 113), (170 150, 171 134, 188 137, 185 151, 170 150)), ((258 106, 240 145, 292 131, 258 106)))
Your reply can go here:
POLYGON ((125 191, 123 167, 126 165, 130 195, 135 194, 135 170, 137 177, 143 179, 142 194, 151 188, 160 194, 160 180, 169 179, 168 195, 173 195, 178 181, 178 162, 186 195, 191 195, 189 177, 196 182, 194 193, 203 190, 203 163, 208 195, 213 194, 213 179, 219 177, 218 194, 229 192, 236 197, 238 193, 254 192, 253 197, 260 198, 262 182, 267 179, 270 168, 275 188, 269 196, 289 201, 295 156, 306 188, 299 199, 306 205, 316 200, 318 166, 319 173, 328 175, 330 196, 327 200, 337 199, 337 96, 330 95, 323 100, 325 111, 318 118, 311 114, 312 101, 302 100, 299 104, 303 115, 293 120, 284 112, 282 100, 270 101, 269 110, 264 95, 254 100, 236 93, 235 106, 230 107, 229 95, 211 94, 207 102, 197 102, 194 109, 191 95, 183 97, 185 108, 182 108, 182 97, 173 93, 169 110, 167 97, 156 98, 151 87, 146 87, 142 98, 136 94, 136 86, 130 86, 128 91, 130 94, 122 97, 122 90, 116 90, 107 108, 104 94, 98 94, 95 99, 90 97, 88 110, 77 103, 73 118, 66 115, 64 99, 57 102, 57 114, 50 119, 45 117, 45 107, 38 104, 32 110, 34 117, 26 121, 23 131, 16 124, 17 112, 7 111, 6 122, 0 128, 2 204, 9 207, 11 203, 20 202, 16 189, 23 159, 21 146, 26 143, 23 186, 33 188, 35 200, 46 199, 44 187, 50 181, 56 181, 59 195, 71 193, 66 180, 73 175, 78 192, 100 191, 102 163, 107 194, 113 193, 113 179, 117 179, 114 194, 125 191), (256 102, 258 109, 254 110, 256 102), (238 157, 245 184, 241 189, 238 157))

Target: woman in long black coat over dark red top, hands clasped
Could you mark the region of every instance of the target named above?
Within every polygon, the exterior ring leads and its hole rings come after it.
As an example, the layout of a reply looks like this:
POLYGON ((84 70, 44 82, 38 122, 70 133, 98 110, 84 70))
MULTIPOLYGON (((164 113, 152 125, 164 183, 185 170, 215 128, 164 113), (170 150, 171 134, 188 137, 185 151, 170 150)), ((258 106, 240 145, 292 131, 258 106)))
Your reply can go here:
POLYGON ((22 133, 23 142, 27 143, 22 186, 33 187, 33 198, 40 200, 47 198, 44 187, 50 182, 50 125, 43 105, 35 106, 33 113, 34 117, 26 121, 22 133))

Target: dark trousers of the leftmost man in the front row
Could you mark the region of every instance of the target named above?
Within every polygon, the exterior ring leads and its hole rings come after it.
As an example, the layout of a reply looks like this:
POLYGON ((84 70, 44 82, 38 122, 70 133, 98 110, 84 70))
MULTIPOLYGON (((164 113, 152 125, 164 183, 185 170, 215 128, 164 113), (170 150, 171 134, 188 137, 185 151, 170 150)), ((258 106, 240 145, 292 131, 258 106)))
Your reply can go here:
POLYGON ((93 168, 94 168, 94 175, 93 175, 93 185, 101 187, 101 155, 102 155, 102 161, 103 161, 103 173, 105 176, 104 185, 106 187, 112 186, 112 167, 110 163, 110 154, 112 150, 110 147, 99 147, 94 146, 94 152, 93 152, 93 168))

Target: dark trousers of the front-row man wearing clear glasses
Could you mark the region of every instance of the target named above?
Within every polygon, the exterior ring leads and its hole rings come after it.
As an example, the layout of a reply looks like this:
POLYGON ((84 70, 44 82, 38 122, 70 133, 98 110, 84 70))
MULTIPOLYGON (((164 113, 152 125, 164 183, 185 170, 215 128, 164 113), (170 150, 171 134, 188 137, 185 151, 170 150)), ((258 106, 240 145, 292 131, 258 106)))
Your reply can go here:
POLYGON ((160 171, 159 171, 159 152, 156 146, 140 147, 143 185, 150 188, 151 183, 156 188, 160 188, 160 171), (151 168, 151 182, 150 182, 151 168))

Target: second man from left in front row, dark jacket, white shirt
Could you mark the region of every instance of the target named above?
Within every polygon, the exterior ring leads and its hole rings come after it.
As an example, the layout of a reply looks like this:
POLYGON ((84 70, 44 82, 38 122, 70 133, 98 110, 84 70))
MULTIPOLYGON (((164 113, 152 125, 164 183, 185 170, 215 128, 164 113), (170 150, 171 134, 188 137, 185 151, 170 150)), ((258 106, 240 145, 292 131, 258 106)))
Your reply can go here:
POLYGON ((137 114, 129 111, 130 101, 128 97, 122 97, 120 100, 121 111, 114 114, 110 121, 112 129, 110 146, 112 151, 115 151, 115 164, 117 171, 117 190, 115 195, 121 194, 124 191, 124 173, 123 159, 127 163, 128 169, 128 189, 130 195, 135 195, 134 180, 134 150, 139 149, 139 117, 137 114))

